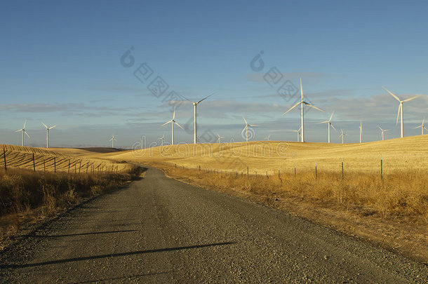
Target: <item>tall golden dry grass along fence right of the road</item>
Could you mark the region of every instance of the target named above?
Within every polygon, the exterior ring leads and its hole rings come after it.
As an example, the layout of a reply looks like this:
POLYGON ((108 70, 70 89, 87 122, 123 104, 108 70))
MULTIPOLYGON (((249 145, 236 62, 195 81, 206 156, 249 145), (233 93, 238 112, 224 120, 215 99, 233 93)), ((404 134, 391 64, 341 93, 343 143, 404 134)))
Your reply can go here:
POLYGON ((428 223, 428 177, 422 170, 396 171, 384 175, 314 172, 249 175, 238 172, 201 171, 154 164, 173 177, 184 177, 203 187, 234 189, 263 196, 299 197, 316 203, 335 205, 342 210, 359 210, 361 215, 411 217, 428 223))

